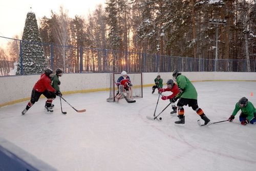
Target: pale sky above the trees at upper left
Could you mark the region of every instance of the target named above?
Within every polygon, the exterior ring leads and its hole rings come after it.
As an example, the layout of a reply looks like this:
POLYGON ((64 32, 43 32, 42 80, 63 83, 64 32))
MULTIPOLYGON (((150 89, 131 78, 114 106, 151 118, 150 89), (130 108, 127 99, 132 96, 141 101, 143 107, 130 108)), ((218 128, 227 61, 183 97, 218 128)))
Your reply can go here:
MULTIPOLYGON (((20 35, 25 26, 27 13, 32 11, 36 15, 37 22, 43 16, 50 17, 51 10, 58 13, 59 7, 69 10, 69 16, 75 15, 87 16, 94 11, 97 4, 103 4, 106 0, 7 0, 0 3, 0 36, 12 38, 14 35, 20 35), (32 10, 30 9, 32 8, 32 10)), ((0 46, 6 46, 8 40, 0 37, 0 46)))

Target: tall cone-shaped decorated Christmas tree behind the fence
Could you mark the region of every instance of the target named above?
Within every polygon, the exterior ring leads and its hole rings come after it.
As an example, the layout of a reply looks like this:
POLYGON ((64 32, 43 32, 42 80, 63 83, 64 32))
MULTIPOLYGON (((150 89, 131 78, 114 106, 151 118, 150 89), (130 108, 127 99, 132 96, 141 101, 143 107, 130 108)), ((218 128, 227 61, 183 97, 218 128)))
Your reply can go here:
POLYGON ((47 68, 47 62, 44 49, 39 44, 41 38, 33 12, 27 14, 22 40, 22 54, 19 57, 16 75, 43 73, 47 68))

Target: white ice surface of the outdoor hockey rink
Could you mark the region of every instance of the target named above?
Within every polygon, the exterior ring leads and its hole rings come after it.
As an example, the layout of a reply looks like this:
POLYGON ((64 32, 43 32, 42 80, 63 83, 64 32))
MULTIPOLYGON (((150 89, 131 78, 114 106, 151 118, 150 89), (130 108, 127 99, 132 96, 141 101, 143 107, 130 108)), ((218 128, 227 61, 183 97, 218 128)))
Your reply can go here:
MULTIPOLYGON (((211 122, 227 120, 241 97, 256 106, 255 81, 193 84, 211 122)), ((182 127, 174 124, 178 118, 169 114, 169 106, 159 116, 162 121, 152 121, 146 116, 153 116, 158 94, 151 92, 143 88, 136 103, 107 102, 109 91, 63 95, 74 108, 87 110, 77 113, 61 100, 67 115, 61 114, 59 98, 52 114, 45 113, 46 98, 25 115, 28 101, 4 106, 0 137, 58 170, 256 170, 256 125, 241 125, 240 112, 233 122, 199 126, 201 118, 184 106, 182 127)), ((156 114, 168 103, 159 99, 156 114)))

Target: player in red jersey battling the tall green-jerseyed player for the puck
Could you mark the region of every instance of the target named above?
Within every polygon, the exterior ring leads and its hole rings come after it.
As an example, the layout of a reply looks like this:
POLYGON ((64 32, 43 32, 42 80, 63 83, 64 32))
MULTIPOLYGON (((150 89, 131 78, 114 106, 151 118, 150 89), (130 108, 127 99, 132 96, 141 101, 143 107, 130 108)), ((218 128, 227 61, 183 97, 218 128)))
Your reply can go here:
POLYGON ((178 86, 174 83, 174 80, 172 79, 169 79, 167 81, 167 88, 166 89, 159 89, 158 92, 173 92, 173 94, 169 95, 169 96, 163 96, 161 97, 163 100, 167 100, 167 99, 170 99, 170 102, 172 102, 172 108, 173 108, 173 111, 170 112, 170 114, 176 114, 177 113, 177 107, 175 105, 175 102, 177 101, 178 98, 175 98, 175 96, 177 96, 180 91, 179 91, 179 88, 178 86))

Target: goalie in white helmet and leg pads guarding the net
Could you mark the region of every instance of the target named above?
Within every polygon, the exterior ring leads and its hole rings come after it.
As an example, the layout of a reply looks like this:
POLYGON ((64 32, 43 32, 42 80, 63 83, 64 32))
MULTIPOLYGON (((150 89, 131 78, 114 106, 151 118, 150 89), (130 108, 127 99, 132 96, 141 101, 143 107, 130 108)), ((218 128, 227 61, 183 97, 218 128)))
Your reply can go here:
POLYGON ((136 102, 136 100, 133 100, 133 85, 131 83, 130 77, 127 76, 125 71, 123 71, 121 75, 122 76, 117 79, 118 92, 115 96, 115 101, 118 103, 119 100, 124 97, 125 100, 129 103, 136 102))

